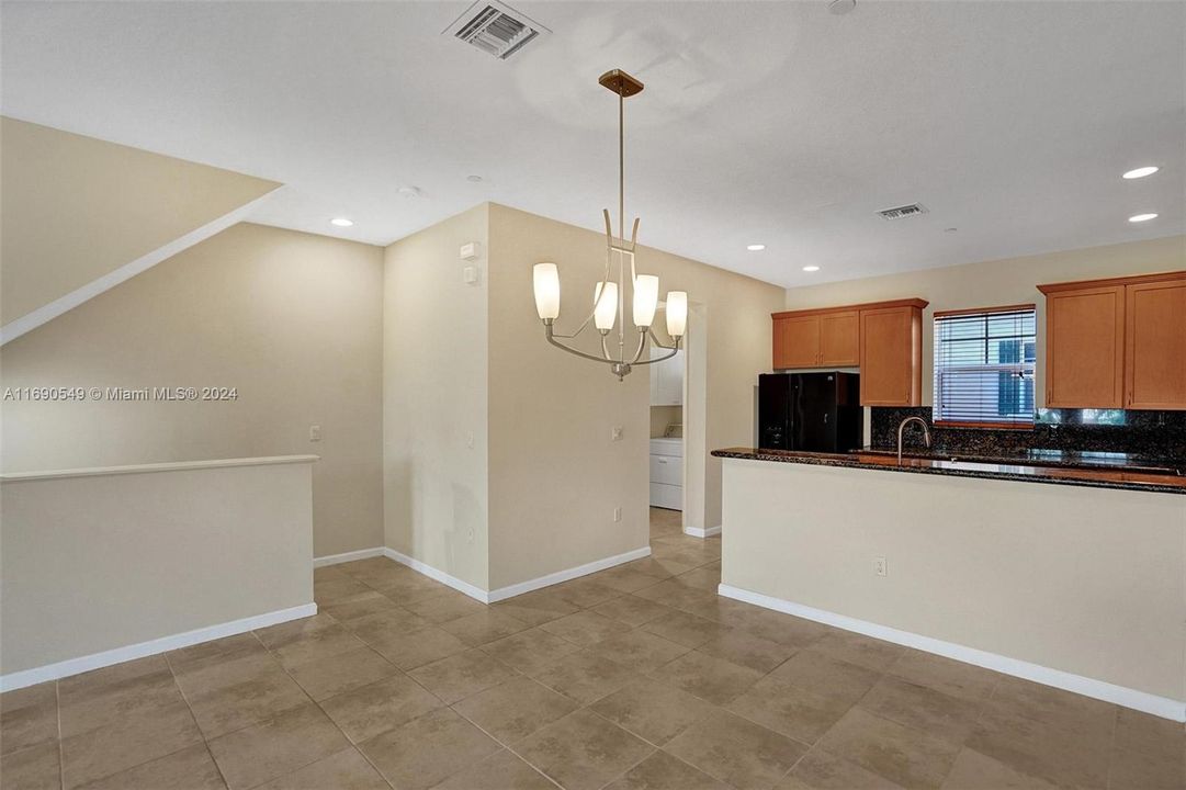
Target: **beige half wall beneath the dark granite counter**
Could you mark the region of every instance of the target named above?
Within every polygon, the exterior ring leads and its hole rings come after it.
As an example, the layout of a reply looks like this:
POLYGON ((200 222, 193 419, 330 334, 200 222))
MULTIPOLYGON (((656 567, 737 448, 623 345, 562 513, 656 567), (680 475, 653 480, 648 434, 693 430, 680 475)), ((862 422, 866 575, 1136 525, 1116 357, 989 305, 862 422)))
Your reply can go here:
POLYGON ((726 585, 1186 700, 1186 497, 747 460, 725 486, 726 585))

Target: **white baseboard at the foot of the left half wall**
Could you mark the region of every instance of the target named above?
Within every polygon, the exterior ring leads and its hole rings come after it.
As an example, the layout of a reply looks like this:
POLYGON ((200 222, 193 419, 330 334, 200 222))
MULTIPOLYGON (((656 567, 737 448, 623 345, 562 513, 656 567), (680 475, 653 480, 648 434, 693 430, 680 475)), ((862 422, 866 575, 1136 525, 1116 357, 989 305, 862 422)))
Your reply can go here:
POLYGON ((274 612, 264 612, 263 614, 244 617, 238 620, 230 620, 229 623, 209 625, 204 629, 195 629, 193 631, 174 633, 172 636, 160 637, 159 639, 139 642, 123 648, 104 650, 103 652, 94 652, 89 656, 68 658, 57 663, 45 664, 44 667, 24 669, 19 673, 8 673, 7 675, 0 675, 0 692, 11 692, 13 689, 25 688, 26 686, 44 683, 45 681, 58 680, 59 677, 69 677, 70 675, 90 671, 91 669, 101 669, 103 667, 110 667, 111 664, 119 664, 125 661, 144 658, 145 656, 155 656, 157 654, 165 652, 166 650, 189 648, 190 645, 198 644, 200 642, 210 642, 211 639, 221 639, 223 637, 235 636, 236 633, 246 633, 247 631, 254 631, 255 629, 278 625, 280 623, 287 623, 288 620, 298 620, 302 617, 313 617, 314 614, 317 614, 317 604, 304 604, 301 606, 292 606, 289 609, 280 609, 274 612))

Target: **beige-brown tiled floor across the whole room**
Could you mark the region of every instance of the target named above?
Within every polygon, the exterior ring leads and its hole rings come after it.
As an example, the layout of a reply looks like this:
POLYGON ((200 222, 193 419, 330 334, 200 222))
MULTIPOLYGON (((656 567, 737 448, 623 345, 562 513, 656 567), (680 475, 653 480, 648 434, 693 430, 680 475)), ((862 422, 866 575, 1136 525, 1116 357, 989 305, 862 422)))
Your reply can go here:
POLYGON ((0 786, 1182 788, 1182 727, 718 598, 720 541, 484 606, 383 559, 317 617, 0 697, 0 786))

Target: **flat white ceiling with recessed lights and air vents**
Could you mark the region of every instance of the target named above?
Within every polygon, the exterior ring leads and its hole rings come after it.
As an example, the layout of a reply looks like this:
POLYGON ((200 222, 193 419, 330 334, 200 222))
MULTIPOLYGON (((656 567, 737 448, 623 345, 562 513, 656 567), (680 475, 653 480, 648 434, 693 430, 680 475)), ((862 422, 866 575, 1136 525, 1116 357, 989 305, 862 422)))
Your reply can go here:
POLYGON ((771 282, 1186 230, 1182 2, 523 0, 554 33, 506 62, 440 34, 467 5, 5 2, 0 108, 283 181, 257 222, 384 244, 484 199, 599 229, 623 68, 640 241, 771 282))

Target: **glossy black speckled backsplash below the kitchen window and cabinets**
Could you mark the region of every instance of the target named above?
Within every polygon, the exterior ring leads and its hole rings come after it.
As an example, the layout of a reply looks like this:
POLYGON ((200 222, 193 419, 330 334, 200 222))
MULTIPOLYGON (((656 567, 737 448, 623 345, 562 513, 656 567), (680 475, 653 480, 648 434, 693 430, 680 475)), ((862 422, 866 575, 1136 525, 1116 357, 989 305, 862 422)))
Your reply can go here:
MULTIPOLYGON (((1026 450, 1076 450, 1131 453, 1147 458, 1186 460, 1186 412, 1123 409, 1039 409, 1033 431, 936 427, 931 407, 871 409, 872 447, 895 447, 898 423, 920 416, 931 427, 936 450, 991 455, 1026 450)), ((918 427, 907 428, 906 444, 917 446, 918 427)))

